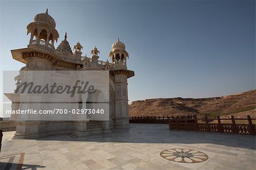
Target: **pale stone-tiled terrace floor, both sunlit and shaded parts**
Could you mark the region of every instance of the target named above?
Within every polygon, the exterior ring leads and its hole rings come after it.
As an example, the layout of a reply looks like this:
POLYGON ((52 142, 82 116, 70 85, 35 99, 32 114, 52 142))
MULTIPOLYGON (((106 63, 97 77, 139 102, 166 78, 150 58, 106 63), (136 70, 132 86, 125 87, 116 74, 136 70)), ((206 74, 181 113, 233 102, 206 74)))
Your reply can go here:
POLYGON ((13 140, 14 132, 4 132, 0 169, 256 168, 255 136, 170 131, 166 124, 130 126, 84 138, 13 140), (182 151, 190 155, 181 159, 182 151))

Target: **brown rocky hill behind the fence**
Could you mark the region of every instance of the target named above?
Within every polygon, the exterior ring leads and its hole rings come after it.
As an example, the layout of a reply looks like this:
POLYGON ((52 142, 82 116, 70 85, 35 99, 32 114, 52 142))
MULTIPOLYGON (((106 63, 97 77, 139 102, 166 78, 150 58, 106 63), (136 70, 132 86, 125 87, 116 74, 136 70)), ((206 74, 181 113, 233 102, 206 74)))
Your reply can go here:
POLYGON ((155 98, 134 101, 129 105, 129 115, 187 115, 196 114, 199 117, 207 115, 216 118, 217 115, 236 115, 245 117, 249 114, 255 118, 256 90, 212 98, 155 98), (241 115, 240 115, 241 113, 241 115))

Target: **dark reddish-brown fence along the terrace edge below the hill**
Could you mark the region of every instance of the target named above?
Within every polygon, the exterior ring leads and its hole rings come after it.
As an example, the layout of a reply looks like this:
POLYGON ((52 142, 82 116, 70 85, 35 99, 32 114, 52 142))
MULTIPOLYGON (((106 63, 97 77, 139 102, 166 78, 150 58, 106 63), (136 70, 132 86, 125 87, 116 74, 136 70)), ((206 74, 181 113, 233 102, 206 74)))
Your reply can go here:
POLYGON ((202 132, 218 132, 225 134, 243 134, 255 135, 256 125, 252 123, 251 117, 246 118, 220 118, 208 119, 208 117, 197 118, 196 115, 177 116, 177 117, 131 117, 130 123, 169 123, 170 130, 187 130, 202 132), (221 121, 231 121, 232 123, 223 123, 221 121), (238 120, 248 123, 236 123, 238 120), (212 123, 216 121, 217 123, 212 123))

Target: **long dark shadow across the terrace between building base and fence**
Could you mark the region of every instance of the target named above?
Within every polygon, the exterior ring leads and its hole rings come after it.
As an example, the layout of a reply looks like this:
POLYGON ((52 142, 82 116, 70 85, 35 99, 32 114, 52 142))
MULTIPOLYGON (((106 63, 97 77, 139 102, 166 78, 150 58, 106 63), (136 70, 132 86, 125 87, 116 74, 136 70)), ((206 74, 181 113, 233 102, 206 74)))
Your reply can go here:
POLYGON ((229 147, 256 148, 255 136, 218 134, 211 132, 171 131, 167 124, 130 123, 130 128, 114 129, 109 134, 73 138, 68 134, 47 136, 36 140, 121 143, 212 143, 229 147))

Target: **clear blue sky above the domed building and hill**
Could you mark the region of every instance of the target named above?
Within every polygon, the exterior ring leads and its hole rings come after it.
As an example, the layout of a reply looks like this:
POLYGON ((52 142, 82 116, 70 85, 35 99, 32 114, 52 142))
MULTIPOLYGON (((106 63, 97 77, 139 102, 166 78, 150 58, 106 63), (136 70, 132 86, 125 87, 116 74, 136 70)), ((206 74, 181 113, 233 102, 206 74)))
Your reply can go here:
POLYGON ((55 47, 67 32, 106 60, 118 37, 126 44, 129 102, 255 89, 255 1, 1 1, 1 72, 23 66, 10 50, 27 47, 27 24, 46 8, 55 47))

